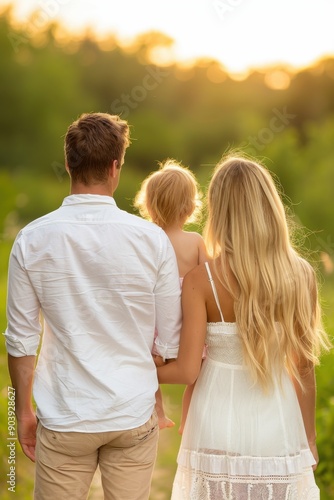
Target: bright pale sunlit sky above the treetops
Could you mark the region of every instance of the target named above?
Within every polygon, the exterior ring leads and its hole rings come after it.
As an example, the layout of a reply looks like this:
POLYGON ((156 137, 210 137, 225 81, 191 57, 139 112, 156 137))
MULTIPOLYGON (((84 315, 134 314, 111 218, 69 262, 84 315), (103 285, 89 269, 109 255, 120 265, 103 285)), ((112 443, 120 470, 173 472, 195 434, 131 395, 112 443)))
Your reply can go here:
MULTIPOLYGON (((0 6, 9 1, 1 1, 0 6)), ((301 68, 334 56, 334 0, 15 0, 14 13, 31 33, 59 20, 77 33, 130 41, 155 30, 174 39, 173 56, 218 60, 231 73, 285 64, 301 68)))

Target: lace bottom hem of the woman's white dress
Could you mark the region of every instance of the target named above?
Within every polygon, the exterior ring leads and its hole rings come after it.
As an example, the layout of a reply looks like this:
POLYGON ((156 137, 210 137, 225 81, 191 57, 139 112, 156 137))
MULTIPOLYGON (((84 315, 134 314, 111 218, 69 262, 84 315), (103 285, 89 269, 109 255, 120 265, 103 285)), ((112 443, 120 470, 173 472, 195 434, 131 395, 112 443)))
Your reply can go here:
POLYGON ((172 500, 319 500, 312 471, 289 478, 238 477, 190 472, 179 467, 172 500))

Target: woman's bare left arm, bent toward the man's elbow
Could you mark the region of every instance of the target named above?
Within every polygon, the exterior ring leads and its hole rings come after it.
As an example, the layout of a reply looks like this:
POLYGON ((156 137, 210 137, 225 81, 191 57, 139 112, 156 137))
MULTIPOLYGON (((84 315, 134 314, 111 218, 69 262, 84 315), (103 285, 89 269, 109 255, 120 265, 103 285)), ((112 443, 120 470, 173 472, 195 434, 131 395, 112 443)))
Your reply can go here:
MULTIPOLYGON (((199 374, 206 335, 207 313, 202 266, 190 271, 182 286, 183 322, 175 361, 158 367, 160 384, 193 384, 199 374), (201 284, 202 283, 202 284, 201 284)), ((204 271, 205 272, 205 271, 204 271)))

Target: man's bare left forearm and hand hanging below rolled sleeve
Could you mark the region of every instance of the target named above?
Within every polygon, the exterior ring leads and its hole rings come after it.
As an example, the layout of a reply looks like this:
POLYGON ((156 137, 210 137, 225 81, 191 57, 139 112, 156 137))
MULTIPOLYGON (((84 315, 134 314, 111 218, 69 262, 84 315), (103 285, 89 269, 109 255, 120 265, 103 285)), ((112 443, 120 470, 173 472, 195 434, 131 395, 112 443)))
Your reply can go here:
POLYGON ((32 404, 36 356, 16 358, 8 354, 8 369, 15 389, 18 438, 23 453, 35 461, 37 418, 32 404))

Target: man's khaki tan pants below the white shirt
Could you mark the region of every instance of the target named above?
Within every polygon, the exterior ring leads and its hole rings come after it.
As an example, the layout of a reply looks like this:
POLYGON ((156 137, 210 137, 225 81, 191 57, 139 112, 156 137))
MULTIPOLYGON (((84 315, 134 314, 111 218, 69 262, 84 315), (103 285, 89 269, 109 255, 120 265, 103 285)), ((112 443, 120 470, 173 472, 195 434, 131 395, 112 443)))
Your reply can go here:
POLYGON ((157 455, 154 413, 126 431, 55 432, 37 429, 35 500, 84 500, 97 465, 105 500, 147 500, 157 455))

